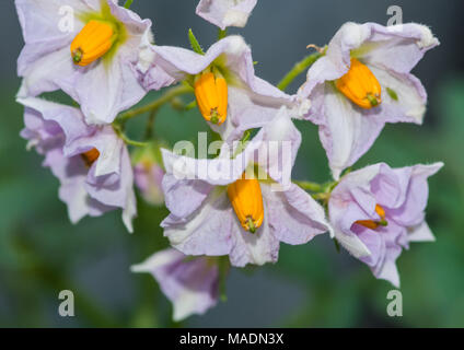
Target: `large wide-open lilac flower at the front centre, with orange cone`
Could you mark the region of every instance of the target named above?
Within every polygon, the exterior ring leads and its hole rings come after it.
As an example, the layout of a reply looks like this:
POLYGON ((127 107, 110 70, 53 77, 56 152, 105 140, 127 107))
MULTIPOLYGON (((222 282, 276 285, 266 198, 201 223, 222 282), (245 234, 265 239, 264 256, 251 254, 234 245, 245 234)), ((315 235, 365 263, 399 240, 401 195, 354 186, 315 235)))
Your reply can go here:
POLYGON ((233 266, 276 261, 280 242, 304 244, 329 230, 324 209, 291 184, 301 142, 286 107, 231 159, 192 159, 162 150, 171 214, 164 235, 186 255, 229 255, 233 266))

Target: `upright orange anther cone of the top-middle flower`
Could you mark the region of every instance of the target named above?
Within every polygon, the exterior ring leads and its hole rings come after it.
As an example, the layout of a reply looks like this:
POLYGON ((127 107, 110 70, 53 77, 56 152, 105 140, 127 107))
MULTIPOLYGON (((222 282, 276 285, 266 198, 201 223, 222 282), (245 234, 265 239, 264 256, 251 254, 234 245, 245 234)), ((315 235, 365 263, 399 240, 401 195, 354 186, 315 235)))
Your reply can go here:
POLYGON ((198 108, 207 121, 221 125, 228 115, 228 83, 212 72, 201 73, 195 82, 198 108))

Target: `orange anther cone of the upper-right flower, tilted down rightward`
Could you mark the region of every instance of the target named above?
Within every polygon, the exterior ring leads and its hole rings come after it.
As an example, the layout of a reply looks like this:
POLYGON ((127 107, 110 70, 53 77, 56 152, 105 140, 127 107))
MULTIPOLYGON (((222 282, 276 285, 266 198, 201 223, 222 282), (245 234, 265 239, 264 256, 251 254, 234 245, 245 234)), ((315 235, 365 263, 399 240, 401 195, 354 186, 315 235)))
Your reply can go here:
POLYGON ((368 66, 351 58, 349 71, 335 82, 338 91, 361 108, 376 107, 382 103, 382 88, 368 66))

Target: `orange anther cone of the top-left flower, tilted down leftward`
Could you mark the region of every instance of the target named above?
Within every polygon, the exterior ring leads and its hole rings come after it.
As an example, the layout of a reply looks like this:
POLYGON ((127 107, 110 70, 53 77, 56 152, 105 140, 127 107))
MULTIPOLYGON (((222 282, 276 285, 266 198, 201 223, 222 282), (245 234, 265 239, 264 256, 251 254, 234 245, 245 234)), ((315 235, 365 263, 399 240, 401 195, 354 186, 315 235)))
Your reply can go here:
POLYGON ((117 39, 109 22, 92 20, 74 37, 71 44, 72 61, 85 67, 103 57, 117 39))

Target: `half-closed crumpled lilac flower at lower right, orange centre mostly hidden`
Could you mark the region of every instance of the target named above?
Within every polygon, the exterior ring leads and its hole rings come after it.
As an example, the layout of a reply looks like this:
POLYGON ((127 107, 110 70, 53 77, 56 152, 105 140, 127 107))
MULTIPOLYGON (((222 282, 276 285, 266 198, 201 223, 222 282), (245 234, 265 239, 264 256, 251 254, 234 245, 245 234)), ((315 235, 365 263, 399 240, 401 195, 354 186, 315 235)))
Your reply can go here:
POLYGON ((434 241, 425 221, 427 178, 443 163, 391 168, 384 163, 344 176, 328 202, 336 240, 376 278, 399 285, 396 258, 409 242, 434 241))

